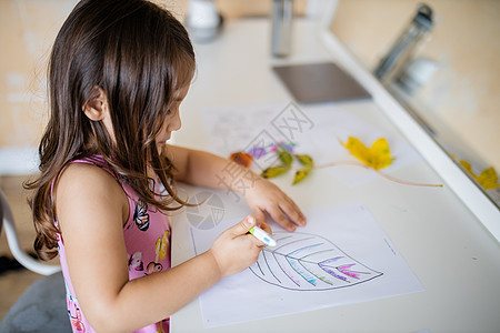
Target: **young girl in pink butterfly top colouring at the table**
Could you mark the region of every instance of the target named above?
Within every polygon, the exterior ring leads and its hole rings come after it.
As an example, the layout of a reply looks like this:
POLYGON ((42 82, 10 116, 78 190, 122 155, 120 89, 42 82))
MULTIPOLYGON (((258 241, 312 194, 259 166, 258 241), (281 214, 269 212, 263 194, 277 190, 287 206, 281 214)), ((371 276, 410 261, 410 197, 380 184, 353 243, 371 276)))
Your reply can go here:
POLYGON ((290 198, 254 175, 243 193, 253 215, 170 268, 166 212, 187 204, 173 180, 218 188, 229 163, 166 144, 181 127, 193 72, 184 28, 143 0, 83 0, 56 39, 41 173, 28 188, 36 250, 60 255, 74 332, 167 331, 172 313, 256 262, 263 243, 248 230, 270 232, 264 213, 289 231, 306 223, 290 198))

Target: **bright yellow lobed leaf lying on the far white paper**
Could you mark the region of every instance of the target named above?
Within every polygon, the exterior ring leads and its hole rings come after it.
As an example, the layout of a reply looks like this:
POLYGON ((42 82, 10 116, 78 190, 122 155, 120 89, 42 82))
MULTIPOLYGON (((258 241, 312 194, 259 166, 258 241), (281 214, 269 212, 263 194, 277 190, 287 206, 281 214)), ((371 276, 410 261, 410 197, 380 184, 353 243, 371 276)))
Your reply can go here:
POLYGON ((371 148, 366 147, 358 138, 349 137, 347 143, 340 141, 349 152, 360 160, 364 165, 380 170, 389 167, 394 160, 391 158, 391 151, 386 138, 380 138, 371 148))

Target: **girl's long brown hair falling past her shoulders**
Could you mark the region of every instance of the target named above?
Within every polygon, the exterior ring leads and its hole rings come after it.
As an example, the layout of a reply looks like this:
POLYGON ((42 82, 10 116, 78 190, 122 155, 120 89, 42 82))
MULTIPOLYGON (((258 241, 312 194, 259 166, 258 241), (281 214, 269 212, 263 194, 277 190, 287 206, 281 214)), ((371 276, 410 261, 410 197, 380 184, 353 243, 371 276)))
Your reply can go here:
POLYGON ((50 119, 39 147, 40 174, 26 183, 34 190, 34 249, 41 259, 58 253, 51 188, 72 160, 100 154, 148 204, 163 211, 186 204, 169 183, 173 167, 159 157, 154 138, 174 93, 190 83, 193 71, 188 33, 167 10, 143 0, 77 4, 52 48, 50 119), (108 97, 114 142, 102 122, 89 120, 82 111, 96 87, 108 97), (148 164, 168 193, 152 192, 148 164))

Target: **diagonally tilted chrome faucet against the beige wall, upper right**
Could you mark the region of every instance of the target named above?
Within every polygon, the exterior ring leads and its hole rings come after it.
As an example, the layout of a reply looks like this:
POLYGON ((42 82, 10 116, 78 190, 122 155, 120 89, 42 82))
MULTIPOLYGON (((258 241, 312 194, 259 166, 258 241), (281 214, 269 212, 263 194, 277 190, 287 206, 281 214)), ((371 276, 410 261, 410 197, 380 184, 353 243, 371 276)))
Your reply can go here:
POLYGON ((420 4, 417 14, 403 33, 396 40, 388 54, 380 61, 374 74, 381 81, 388 82, 399 74, 414 51, 417 44, 432 28, 432 9, 420 4))

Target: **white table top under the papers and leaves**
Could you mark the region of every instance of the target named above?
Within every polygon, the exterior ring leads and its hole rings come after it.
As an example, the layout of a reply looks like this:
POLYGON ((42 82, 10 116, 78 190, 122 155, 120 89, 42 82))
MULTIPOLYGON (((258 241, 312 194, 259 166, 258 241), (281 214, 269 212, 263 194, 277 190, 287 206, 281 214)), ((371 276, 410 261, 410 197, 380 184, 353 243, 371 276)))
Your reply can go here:
MULTIPOLYGON (((297 20, 294 29, 292 54, 282 60, 270 56, 270 26, 263 19, 229 21, 217 40, 196 44, 197 78, 181 105, 183 128, 176 133, 176 143, 208 149, 201 118, 206 108, 291 101, 272 73, 272 64, 334 61, 336 54, 324 47, 316 22, 297 20)), ((407 129, 394 127, 378 98, 336 107, 422 150, 420 143, 408 140, 407 129)), ((349 188, 322 171, 312 173, 300 186, 291 186, 289 179, 273 180, 302 209, 363 203, 420 280, 423 292, 216 329, 203 329, 194 300, 172 315, 171 331, 499 332, 499 243, 452 191, 450 179, 434 171, 440 169, 432 162, 422 159, 392 175, 444 183, 442 189, 404 186, 384 179, 349 188)), ((173 219, 173 265, 192 256, 187 223, 186 214, 173 219)))

